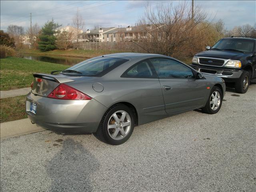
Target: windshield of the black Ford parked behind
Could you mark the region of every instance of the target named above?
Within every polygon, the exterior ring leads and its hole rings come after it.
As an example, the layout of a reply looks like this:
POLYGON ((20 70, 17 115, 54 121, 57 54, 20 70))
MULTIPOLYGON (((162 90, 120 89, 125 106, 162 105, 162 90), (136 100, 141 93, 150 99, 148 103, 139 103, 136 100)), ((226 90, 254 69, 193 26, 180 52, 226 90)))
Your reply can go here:
POLYGON ((212 49, 230 50, 238 52, 253 52, 254 40, 228 38, 219 40, 212 49))

